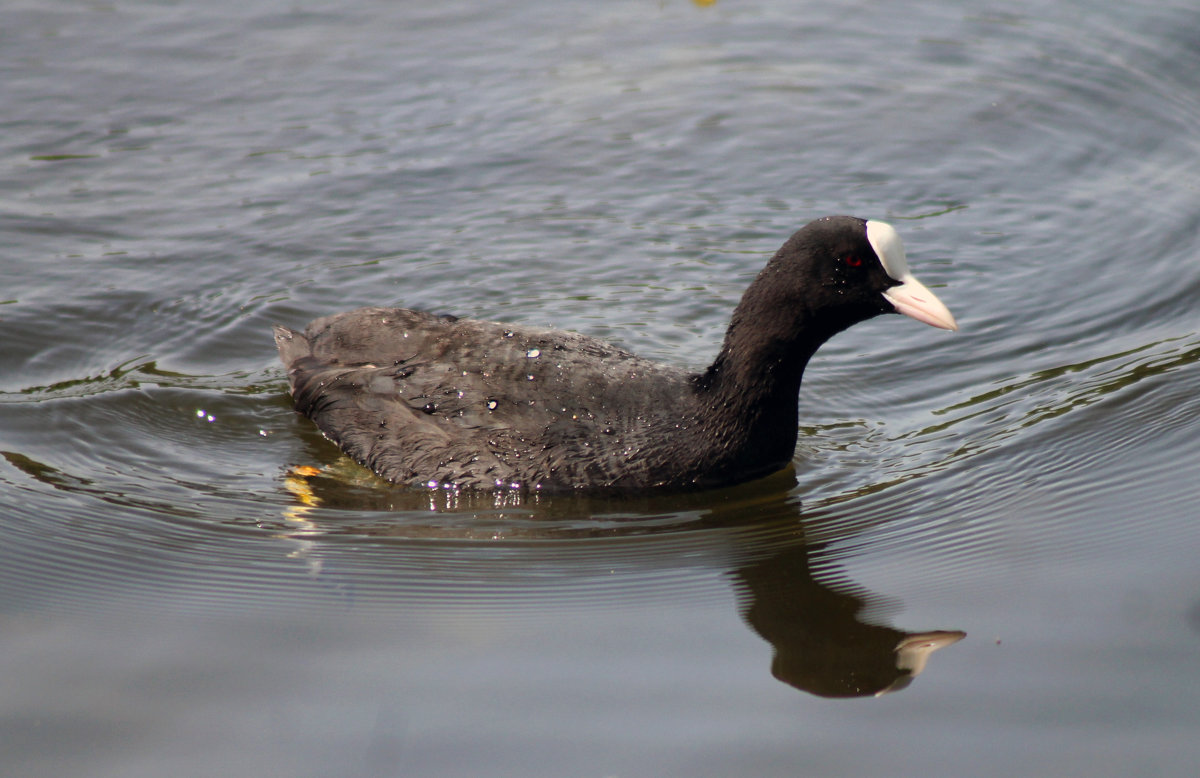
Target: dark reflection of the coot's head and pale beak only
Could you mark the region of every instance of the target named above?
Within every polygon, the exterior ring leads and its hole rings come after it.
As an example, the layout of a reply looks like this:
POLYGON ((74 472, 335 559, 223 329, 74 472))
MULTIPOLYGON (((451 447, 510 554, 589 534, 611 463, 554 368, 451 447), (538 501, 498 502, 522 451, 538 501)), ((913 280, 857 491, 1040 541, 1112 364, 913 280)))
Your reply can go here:
POLYGON ((929 654, 966 633, 905 633, 860 621, 875 599, 853 584, 818 582, 814 546, 797 543, 737 569, 743 616, 774 650, 770 671, 826 698, 880 695, 905 688, 929 654))

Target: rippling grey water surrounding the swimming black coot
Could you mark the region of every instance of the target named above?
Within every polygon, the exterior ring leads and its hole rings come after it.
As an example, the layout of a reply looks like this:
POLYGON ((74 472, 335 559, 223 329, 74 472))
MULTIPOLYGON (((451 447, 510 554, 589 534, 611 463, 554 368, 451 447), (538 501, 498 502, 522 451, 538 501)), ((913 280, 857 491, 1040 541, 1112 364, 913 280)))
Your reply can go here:
POLYGON ((6 776, 1195 774, 1195 4, 8 0, 0 235, 6 776), (289 409, 366 304, 703 365, 833 213, 962 331, 830 342, 793 472, 403 492, 289 409))

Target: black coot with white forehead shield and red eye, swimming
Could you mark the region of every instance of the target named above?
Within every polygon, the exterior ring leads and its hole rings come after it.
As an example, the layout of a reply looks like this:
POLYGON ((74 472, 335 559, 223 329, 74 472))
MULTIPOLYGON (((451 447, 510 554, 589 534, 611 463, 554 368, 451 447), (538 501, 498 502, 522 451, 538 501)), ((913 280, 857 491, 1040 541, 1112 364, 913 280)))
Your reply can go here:
POLYGON ((708 369, 602 341, 407 309, 275 328, 295 407, 383 478, 454 489, 704 489, 770 474, 796 450, 804 366, 880 313, 958 329, 889 225, 793 234, 733 311, 708 369))

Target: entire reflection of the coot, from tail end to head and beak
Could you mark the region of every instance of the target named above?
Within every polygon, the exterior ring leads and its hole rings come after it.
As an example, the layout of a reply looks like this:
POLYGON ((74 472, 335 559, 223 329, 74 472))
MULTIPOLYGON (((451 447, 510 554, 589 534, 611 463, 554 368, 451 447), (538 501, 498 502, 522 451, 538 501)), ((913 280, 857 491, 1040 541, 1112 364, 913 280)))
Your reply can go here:
MULTIPOLYGON (((724 499, 715 504, 702 495, 641 501, 558 496, 536 510, 517 510, 512 516, 520 521, 505 521, 503 509, 497 510, 499 507, 491 503, 488 495, 475 495, 478 502, 468 503, 469 492, 464 492, 452 505, 428 511, 433 507, 428 493, 347 480, 354 472, 348 468, 338 477, 336 469, 305 468, 293 471, 286 480, 299 505, 286 511, 287 532, 281 537, 305 544, 305 552, 316 555, 314 570, 320 570, 320 546, 314 539, 324 534, 464 541, 490 537, 500 540, 506 552, 497 555, 500 546, 490 545, 488 555, 472 561, 478 591, 463 585, 462 564, 446 575, 448 580, 452 576, 457 597, 486 598, 494 614, 505 592, 526 603, 530 590, 538 598, 553 600, 572 588, 564 584, 587 580, 598 569, 611 585, 608 574, 617 557, 611 546, 593 541, 618 537, 630 541, 620 544, 619 556, 630 590, 642 587, 638 561, 661 577, 665 565, 689 568, 722 559, 738 590, 745 621, 775 650, 772 674, 803 692, 827 698, 902 689, 925 669, 930 653, 966 636, 953 630, 906 633, 863 620, 868 608, 883 598, 824 574, 824 580, 816 580, 810 557, 824 544, 809 545, 797 533, 798 507, 790 502, 786 490, 768 496, 754 486, 726 490, 724 499), (342 513, 336 521, 323 523, 318 507, 342 513), (428 521, 420 520, 422 507, 428 521), (346 510, 366 515, 347 523, 346 510), (371 517, 373 511, 378 517, 371 517), (629 517, 580 519, 618 514, 629 517), (664 523, 665 514, 679 516, 679 522, 664 523), (642 520, 652 516, 654 522, 642 520), (671 539, 678 532, 688 538, 686 552, 672 557, 672 552, 682 551, 671 539), (644 543, 637 543, 638 538, 644 543), (521 544, 530 539, 553 543, 521 544), (731 558, 737 562, 727 562, 731 558)), ((786 473, 780 483, 793 478, 786 473)), ((463 551, 469 553, 469 546, 463 551)), ((823 568, 828 569, 824 563, 823 568)), ((422 575, 426 587, 437 587, 436 565, 424 567, 422 575)))

